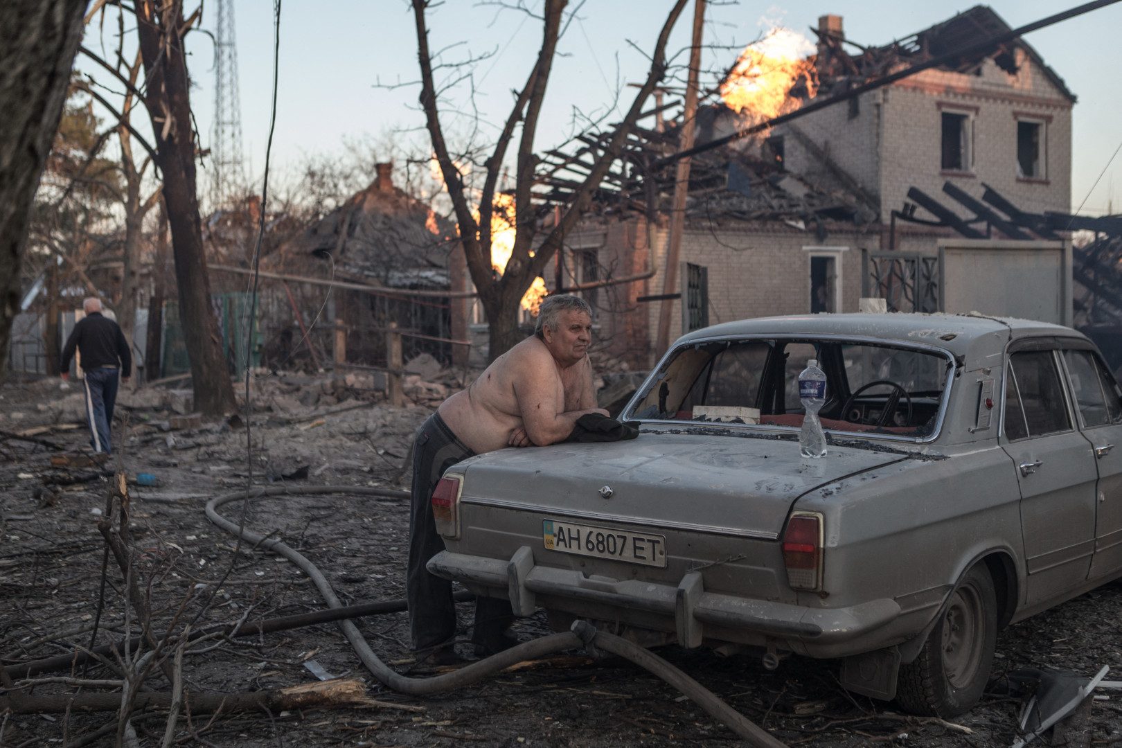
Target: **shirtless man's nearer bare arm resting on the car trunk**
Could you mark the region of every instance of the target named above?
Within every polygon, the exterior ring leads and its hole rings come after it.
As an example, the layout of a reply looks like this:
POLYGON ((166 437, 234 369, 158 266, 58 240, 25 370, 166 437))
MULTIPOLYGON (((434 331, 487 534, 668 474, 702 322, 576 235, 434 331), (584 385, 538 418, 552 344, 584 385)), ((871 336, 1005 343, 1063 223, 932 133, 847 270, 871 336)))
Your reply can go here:
POLYGON ((514 396, 526 435, 534 444, 545 446, 564 441, 572 433, 578 418, 586 413, 597 412, 597 408, 562 410, 564 387, 553 357, 544 347, 527 349, 518 360, 511 361, 507 366, 513 366, 515 370, 514 396))

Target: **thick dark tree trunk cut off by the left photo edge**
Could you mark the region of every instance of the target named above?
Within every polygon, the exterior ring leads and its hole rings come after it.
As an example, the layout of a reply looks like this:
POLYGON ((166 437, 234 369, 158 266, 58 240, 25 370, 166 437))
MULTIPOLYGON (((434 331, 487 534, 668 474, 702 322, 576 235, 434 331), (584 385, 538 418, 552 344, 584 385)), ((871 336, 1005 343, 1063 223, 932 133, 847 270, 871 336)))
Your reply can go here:
POLYGON ((0 380, 30 207, 66 101, 85 0, 0 2, 0 380))

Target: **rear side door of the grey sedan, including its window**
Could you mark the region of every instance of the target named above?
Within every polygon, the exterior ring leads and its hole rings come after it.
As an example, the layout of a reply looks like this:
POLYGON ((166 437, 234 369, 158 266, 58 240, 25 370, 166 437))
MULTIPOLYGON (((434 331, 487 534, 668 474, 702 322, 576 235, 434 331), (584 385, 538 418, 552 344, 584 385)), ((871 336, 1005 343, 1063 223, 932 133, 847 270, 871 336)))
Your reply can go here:
POLYGON ((1033 606, 1087 579, 1097 473, 1091 445, 1072 423, 1058 351, 1015 345, 1005 366, 1002 447, 1021 489, 1026 603, 1033 606))

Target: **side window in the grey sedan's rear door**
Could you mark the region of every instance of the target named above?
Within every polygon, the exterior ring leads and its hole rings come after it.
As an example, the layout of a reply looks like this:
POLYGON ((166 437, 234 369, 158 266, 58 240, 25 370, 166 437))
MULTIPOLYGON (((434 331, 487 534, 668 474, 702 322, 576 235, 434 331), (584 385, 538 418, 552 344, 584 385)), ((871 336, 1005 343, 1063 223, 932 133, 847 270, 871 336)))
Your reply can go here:
POLYGON ((1072 428, 1051 351, 1013 353, 1009 357, 1009 372, 1005 384, 1005 435, 1010 440, 1045 436, 1072 428))

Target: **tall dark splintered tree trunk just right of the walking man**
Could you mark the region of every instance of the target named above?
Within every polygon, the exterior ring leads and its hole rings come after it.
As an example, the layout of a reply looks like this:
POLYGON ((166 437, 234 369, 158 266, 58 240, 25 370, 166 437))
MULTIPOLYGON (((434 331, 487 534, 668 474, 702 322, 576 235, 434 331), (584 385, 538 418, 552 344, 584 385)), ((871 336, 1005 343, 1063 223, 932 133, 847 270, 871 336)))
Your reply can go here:
POLYGON ((232 413, 237 405, 211 306, 199 220, 191 83, 181 36, 183 4, 175 0, 157 9, 154 0, 142 0, 137 3, 137 17, 148 81, 145 103, 156 132, 157 163, 164 175, 164 201, 172 228, 175 281, 180 290, 180 320, 191 359, 195 408, 208 416, 222 416, 232 413))

